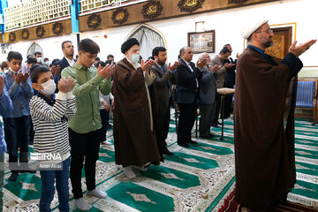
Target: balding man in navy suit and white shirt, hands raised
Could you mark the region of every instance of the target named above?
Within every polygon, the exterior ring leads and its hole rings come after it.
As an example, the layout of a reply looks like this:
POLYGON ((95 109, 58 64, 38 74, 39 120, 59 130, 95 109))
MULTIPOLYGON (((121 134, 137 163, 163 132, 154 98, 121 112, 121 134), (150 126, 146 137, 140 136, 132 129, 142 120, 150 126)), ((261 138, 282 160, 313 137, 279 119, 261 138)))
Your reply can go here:
POLYGON ((191 130, 193 129, 197 100, 199 97, 199 82, 201 78, 201 68, 206 63, 201 59, 197 67, 191 61, 193 59, 193 50, 190 47, 180 49, 181 64, 178 66, 178 83, 177 83, 177 103, 180 110, 178 122, 178 145, 184 148, 190 148, 188 143, 197 144, 191 140, 191 130))

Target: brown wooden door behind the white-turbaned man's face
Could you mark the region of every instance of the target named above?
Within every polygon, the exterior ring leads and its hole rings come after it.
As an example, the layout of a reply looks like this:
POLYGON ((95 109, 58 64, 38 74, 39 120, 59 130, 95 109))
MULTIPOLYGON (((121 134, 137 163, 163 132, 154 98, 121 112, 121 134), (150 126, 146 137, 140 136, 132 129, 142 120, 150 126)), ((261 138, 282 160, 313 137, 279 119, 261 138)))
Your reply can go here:
POLYGON ((273 31, 274 45, 266 49, 265 53, 283 59, 292 45, 292 27, 273 28, 273 31))

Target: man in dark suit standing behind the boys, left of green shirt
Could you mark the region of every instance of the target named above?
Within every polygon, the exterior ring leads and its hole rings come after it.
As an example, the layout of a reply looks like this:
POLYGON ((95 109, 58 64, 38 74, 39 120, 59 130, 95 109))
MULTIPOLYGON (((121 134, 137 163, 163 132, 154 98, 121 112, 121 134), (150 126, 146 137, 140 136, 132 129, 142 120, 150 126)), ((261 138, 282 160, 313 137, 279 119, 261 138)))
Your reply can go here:
MULTIPOLYGON (((62 42, 62 51, 64 54, 64 57, 57 61, 57 63, 54 64, 55 67, 53 67, 51 70, 54 75, 54 81, 56 84, 61 79, 61 72, 64 70, 64 68, 74 64, 76 60, 74 57, 74 46, 72 45, 71 41, 64 41, 62 42)), ((58 89, 56 90, 56 92, 58 89)))

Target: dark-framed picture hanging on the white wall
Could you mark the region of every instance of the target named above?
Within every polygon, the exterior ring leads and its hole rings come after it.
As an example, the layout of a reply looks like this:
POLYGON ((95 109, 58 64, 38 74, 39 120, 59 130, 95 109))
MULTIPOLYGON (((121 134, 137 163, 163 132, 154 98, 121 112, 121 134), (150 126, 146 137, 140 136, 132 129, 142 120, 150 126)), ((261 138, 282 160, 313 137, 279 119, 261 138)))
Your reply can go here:
POLYGON ((193 49, 193 54, 215 52, 215 30, 209 30, 200 33, 188 33, 188 46, 193 49))

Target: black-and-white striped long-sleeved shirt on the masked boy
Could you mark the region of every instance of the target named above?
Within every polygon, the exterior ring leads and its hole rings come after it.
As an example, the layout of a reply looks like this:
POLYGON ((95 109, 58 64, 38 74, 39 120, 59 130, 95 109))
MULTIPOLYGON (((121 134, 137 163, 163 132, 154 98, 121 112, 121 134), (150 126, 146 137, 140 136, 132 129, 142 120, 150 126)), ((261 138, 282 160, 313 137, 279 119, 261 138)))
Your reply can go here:
POLYGON ((75 115, 75 96, 58 92, 56 99, 39 93, 30 101, 34 124, 34 153, 59 154, 62 161, 70 156, 67 120, 75 115))

